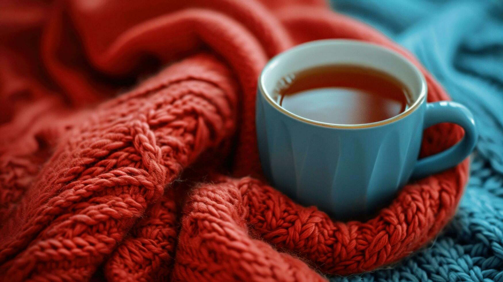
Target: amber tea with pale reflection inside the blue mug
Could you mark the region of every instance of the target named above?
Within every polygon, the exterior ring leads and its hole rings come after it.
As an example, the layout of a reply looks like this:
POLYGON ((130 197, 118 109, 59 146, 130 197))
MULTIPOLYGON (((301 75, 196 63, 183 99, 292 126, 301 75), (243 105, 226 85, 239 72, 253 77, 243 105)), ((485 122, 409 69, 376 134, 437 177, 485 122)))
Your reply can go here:
POLYGON ((314 121, 364 124, 405 111, 410 94, 394 77, 364 66, 324 65, 283 78, 277 100, 291 113, 314 121))

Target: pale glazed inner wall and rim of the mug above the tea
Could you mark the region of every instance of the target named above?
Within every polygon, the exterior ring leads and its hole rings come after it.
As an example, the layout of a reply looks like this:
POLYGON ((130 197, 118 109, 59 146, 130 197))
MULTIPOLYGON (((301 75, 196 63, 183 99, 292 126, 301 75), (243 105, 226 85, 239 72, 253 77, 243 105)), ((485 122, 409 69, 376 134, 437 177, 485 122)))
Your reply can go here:
POLYGON ((425 99, 427 86, 423 74, 409 60, 395 51, 357 40, 327 39, 307 42, 275 56, 264 67, 259 79, 262 95, 280 111, 310 123, 331 127, 377 126, 399 119, 415 110, 425 99), (332 124, 310 120, 291 113, 278 104, 275 89, 278 82, 290 74, 327 64, 360 65, 380 70, 407 87, 410 106, 402 113, 386 120, 367 124, 332 124))

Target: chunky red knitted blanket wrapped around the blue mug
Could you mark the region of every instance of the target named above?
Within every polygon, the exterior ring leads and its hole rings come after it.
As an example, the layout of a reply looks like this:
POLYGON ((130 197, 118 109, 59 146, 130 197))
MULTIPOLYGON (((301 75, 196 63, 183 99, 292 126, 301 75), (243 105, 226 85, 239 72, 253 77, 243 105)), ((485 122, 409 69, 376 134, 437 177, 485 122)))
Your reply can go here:
MULTIPOLYGON (((449 99, 408 52, 323 2, 0 5, 5 280, 324 280, 399 260, 455 213, 467 161, 406 185, 367 222, 333 221, 263 182, 257 79, 295 44, 386 46, 420 67, 429 101, 449 99)), ((462 134, 426 130, 422 156, 462 134)))

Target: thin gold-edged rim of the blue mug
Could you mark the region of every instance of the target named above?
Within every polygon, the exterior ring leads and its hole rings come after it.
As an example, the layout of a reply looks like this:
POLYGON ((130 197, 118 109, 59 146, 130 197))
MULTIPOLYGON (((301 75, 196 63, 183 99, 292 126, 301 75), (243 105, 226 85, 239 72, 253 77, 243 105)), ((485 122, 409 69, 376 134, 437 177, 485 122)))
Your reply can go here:
POLYGON ((372 43, 372 42, 366 42, 366 41, 361 41, 361 40, 352 40, 352 39, 322 39, 322 40, 314 40, 314 41, 309 41, 309 42, 306 42, 306 43, 299 44, 297 46, 294 46, 294 47, 292 47, 290 49, 287 49, 287 50, 281 52, 280 54, 278 54, 278 55, 274 56, 272 59, 270 59, 267 62, 267 64, 264 66, 264 68, 262 69, 262 72, 260 73, 260 76, 259 76, 259 90, 261 92, 261 95, 264 96, 264 98, 269 102, 269 104, 271 104, 273 107, 275 107, 277 110, 279 110, 283 114, 286 114, 286 115, 288 115, 288 116, 290 116, 292 118, 295 118, 295 119, 298 119, 298 120, 301 120, 301 121, 304 121, 304 122, 307 122, 307 123, 310 123, 310 124, 320 125, 320 126, 324 126, 324 127, 333 127, 333 128, 367 128, 367 127, 380 126, 380 125, 384 125, 384 124, 387 124, 387 123, 391 123, 391 122, 397 121, 397 120, 402 119, 405 116, 409 115, 410 113, 412 113, 413 111, 415 111, 417 108, 419 108, 419 106, 425 101, 425 98, 426 98, 426 95, 427 95, 427 92, 428 92, 427 91, 426 80, 425 80, 425 77, 423 76, 423 74, 421 73, 421 71, 413 63, 411 63, 407 58, 405 58, 402 54, 400 54, 400 53, 398 53, 398 52, 396 52, 394 50, 390 50, 388 48, 385 48, 385 47, 383 47, 381 45, 372 43), (405 111, 403 111, 403 112, 401 112, 401 113, 399 113, 399 114, 397 114, 397 115, 395 115, 393 117, 390 117, 388 119, 384 119, 384 120, 380 120, 380 121, 376 121, 376 122, 371 122, 371 123, 361 123, 361 124, 337 124, 337 123, 328 123, 328 122, 316 121, 316 120, 312 120, 312 119, 308 119, 308 118, 296 115, 296 114, 294 114, 294 113, 286 110, 285 108, 281 107, 280 105, 278 105, 272 99, 271 95, 265 90, 265 88, 264 88, 264 80, 266 79, 265 78, 265 72, 267 71, 267 69, 271 68, 273 64, 275 64, 277 61, 279 61, 283 57, 285 57, 288 53, 290 53, 290 52, 292 52, 294 50, 305 49, 305 48, 309 48, 311 46, 319 45, 319 44, 339 45, 341 43, 344 43, 344 44, 354 44, 354 45, 365 45, 367 47, 377 48, 377 49, 380 49, 380 51, 384 51, 386 53, 389 53, 389 54, 395 56, 396 58, 398 58, 399 60, 401 60, 402 62, 404 62, 405 64, 407 64, 412 69, 412 71, 414 72, 414 74, 421 81, 421 90, 420 90, 420 93, 419 93, 417 99, 415 99, 414 103, 409 108, 407 108, 405 111))

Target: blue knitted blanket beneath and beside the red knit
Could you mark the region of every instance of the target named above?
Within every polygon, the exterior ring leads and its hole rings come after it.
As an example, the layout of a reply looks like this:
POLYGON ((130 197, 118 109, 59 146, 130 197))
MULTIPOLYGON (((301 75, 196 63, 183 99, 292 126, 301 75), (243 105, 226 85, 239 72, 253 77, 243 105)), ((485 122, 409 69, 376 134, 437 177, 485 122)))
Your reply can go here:
POLYGON ((434 242, 385 269, 331 281, 503 282, 503 1, 335 0, 332 6, 413 52, 473 112, 480 138, 458 212, 434 242))

